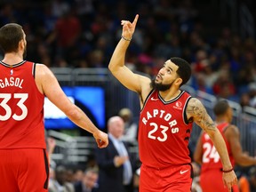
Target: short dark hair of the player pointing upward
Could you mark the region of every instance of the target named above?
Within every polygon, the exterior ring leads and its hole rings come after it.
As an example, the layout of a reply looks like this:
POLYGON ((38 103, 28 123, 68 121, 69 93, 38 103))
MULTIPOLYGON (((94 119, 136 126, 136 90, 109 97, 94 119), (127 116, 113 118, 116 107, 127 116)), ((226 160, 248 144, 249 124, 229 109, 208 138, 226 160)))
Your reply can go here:
POLYGON ((187 60, 183 60, 179 57, 172 57, 170 59, 175 65, 177 65, 179 68, 177 70, 177 74, 182 79, 182 83, 180 84, 187 84, 190 76, 191 76, 191 67, 187 60))

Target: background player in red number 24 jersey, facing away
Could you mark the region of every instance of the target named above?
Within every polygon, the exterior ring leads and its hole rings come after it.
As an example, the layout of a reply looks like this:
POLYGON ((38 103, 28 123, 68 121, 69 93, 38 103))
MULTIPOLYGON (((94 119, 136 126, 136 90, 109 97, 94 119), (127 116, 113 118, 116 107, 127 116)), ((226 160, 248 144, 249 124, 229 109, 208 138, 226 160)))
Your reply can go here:
MULTIPOLYGON (((226 142, 228 156, 232 166, 234 166, 235 163, 241 166, 256 164, 255 157, 248 156, 243 152, 238 128, 234 124, 230 124, 233 117, 233 109, 228 105, 228 101, 219 100, 215 104, 213 112, 216 116, 215 123, 226 142)), ((200 185, 203 191, 228 191, 228 188, 224 188, 223 186, 220 156, 206 132, 202 132, 197 141, 194 160, 202 164, 200 185)), ((233 186, 232 189, 234 192, 239 191, 236 185, 233 186)))

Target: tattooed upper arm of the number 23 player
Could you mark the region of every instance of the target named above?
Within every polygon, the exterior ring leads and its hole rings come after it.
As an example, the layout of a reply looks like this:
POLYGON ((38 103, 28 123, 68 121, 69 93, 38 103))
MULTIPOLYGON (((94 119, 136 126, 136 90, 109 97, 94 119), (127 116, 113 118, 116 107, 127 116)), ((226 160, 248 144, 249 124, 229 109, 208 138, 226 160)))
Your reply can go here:
POLYGON ((201 126, 204 131, 215 131, 216 126, 212 121, 211 116, 208 115, 206 109, 204 108, 203 104, 196 99, 189 100, 187 113, 190 116, 193 116, 194 121, 196 124, 201 126))

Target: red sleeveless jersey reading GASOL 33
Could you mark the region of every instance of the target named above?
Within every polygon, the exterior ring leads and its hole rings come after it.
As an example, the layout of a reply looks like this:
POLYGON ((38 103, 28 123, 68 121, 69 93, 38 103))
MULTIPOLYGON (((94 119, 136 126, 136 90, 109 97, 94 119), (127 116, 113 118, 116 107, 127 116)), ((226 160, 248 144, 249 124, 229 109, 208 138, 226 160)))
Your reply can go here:
POLYGON ((0 61, 0 148, 45 148, 44 95, 35 82, 36 64, 0 61))

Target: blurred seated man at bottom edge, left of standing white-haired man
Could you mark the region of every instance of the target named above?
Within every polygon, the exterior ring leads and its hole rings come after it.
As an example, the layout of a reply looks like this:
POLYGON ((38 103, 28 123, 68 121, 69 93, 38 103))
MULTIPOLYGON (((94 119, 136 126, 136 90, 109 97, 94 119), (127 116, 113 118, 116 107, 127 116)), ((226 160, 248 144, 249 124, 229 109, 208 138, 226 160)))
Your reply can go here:
POLYGON ((75 183, 76 192, 96 192, 98 188, 98 168, 89 167, 84 171, 83 178, 75 183))

